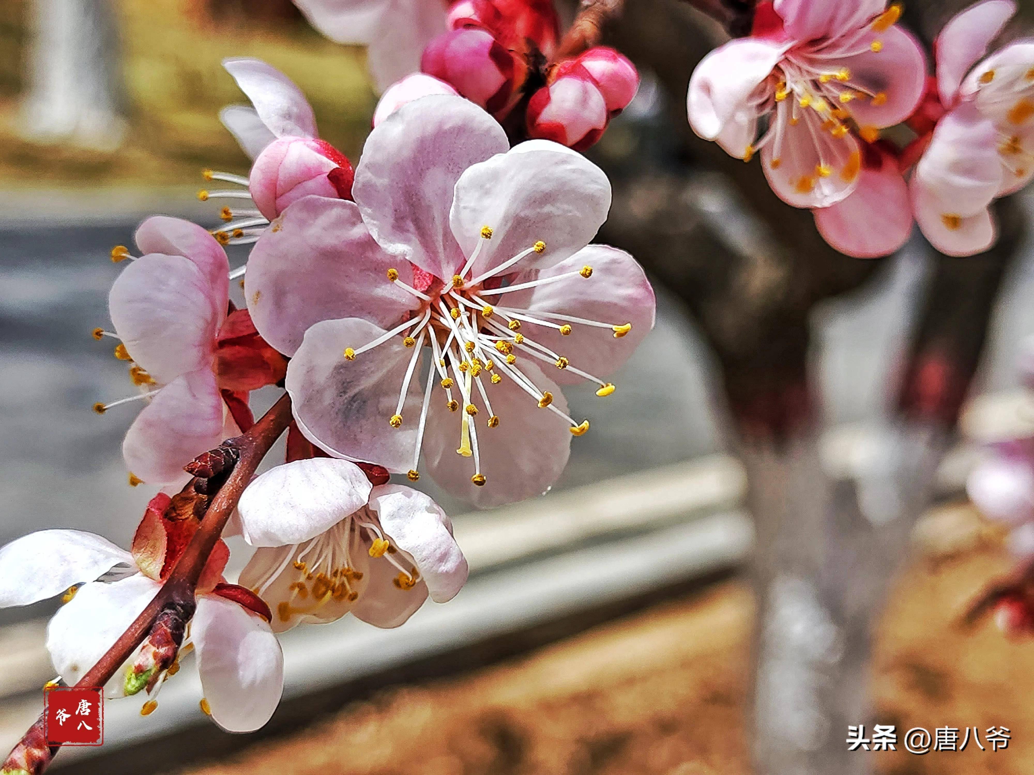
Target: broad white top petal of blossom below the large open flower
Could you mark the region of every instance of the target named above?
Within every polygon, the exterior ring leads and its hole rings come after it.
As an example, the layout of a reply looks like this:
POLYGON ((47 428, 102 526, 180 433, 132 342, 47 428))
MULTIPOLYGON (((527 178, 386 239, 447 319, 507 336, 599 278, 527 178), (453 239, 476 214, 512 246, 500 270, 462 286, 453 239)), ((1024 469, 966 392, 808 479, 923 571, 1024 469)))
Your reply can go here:
POLYGON ((313 458, 276 466, 241 496, 241 532, 253 547, 301 544, 366 505, 370 488, 362 469, 347 460, 313 458))

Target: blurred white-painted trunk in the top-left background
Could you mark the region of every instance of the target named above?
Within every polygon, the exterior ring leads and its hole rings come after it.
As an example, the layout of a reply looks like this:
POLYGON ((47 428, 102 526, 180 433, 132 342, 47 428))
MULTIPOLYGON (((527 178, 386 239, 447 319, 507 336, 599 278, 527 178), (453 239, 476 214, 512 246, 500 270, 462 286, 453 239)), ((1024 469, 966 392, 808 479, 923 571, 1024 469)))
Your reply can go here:
POLYGON ((110 0, 32 0, 20 131, 37 143, 112 151, 125 134, 110 0))

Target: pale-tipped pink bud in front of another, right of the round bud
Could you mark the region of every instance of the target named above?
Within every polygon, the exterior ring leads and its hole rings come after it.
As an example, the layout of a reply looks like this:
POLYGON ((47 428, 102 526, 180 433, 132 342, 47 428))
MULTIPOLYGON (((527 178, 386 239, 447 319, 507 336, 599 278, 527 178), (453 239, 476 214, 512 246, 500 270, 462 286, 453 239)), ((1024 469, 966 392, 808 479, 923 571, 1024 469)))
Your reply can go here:
POLYGON ((603 93, 589 71, 574 61, 562 62, 551 82, 527 104, 527 133, 584 151, 603 134, 609 117, 603 93))

